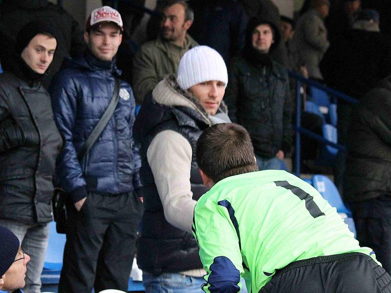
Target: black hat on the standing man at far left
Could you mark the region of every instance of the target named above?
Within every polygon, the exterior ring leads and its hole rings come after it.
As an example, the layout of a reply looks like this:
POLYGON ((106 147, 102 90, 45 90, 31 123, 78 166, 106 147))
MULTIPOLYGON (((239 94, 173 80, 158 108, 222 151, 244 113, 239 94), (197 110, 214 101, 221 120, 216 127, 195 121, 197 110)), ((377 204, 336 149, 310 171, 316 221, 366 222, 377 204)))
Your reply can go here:
POLYGON ((15 53, 17 55, 21 55, 22 51, 28 46, 28 43, 32 38, 44 33, 52 35, 56 41, 58 41, 56 31, 49 23, 44 21, 30 21, 25 24, 16 36, 15 53))

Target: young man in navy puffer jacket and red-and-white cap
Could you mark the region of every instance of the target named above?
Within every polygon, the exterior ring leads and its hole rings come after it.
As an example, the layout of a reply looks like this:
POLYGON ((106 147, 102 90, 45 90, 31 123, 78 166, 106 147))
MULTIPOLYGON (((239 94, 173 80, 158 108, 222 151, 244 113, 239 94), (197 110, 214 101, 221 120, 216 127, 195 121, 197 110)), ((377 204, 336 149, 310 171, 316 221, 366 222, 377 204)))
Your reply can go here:
POLYGON ((132 138, 135 104, 129 84, 120 81, 120 99, 108 125, 82 160, 77 157, 113 95, 122 29, 115 9, 92 11, 84 34, 87 52, 69 60, 49 88, 65 139, 56 174, 69 194, 59 292, 128 289, 142 210, 134 193, 140 159, 132 138))

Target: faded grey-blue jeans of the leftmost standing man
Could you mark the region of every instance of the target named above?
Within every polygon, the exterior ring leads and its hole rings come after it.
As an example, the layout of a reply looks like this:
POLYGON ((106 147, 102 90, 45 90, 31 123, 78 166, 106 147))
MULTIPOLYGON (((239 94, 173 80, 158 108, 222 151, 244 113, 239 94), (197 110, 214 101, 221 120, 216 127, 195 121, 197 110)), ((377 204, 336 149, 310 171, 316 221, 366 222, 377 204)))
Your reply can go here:
POLYGON ((45 261, 49 223, 25 224, 10 219, 0 219, 0 226, 11 230, 21 243, 22 250, 30 256, 27 263, 24 293, 41 292, 41 273, 45 261))

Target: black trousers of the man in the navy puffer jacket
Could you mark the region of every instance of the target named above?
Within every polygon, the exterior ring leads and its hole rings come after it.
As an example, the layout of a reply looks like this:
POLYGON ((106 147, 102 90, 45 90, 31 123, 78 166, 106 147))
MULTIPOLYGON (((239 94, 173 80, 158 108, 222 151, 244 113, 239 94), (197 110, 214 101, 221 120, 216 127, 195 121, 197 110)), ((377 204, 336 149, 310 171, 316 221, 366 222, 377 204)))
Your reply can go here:
POLYGON ((68 232, 59 293, 128 292, 142 203, 133 193, 89 193, 82 209, 67 206, 68 232))

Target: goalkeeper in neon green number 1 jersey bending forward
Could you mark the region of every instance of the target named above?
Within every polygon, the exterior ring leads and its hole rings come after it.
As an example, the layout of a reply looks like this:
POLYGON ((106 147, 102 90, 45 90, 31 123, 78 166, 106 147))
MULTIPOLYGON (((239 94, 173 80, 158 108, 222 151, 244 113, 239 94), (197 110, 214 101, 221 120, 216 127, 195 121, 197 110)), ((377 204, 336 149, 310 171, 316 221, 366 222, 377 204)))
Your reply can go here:
POLYGON ((207 128, 196 145, 204 184, 193 232, 203 291, 386 293, 391 277, 320 193, 281 170, 257 171, 247 131, 207 128))

